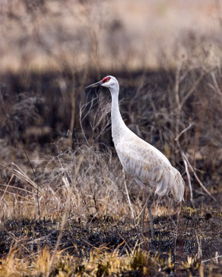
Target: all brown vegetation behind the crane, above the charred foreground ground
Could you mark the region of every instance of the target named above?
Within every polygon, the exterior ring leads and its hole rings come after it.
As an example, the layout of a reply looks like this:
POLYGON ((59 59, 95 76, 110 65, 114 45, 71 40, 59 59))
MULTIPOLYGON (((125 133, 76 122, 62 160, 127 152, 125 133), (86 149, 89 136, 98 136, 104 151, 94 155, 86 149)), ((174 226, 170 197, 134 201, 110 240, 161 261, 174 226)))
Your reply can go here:
MULTIPOLYGON (((103 214, 130 215, 126 202, 119 211, 112 206, 124 197, 110 93, 85 92, 105 75, 119 80, 130 129, 164 152, 187 182, 182 149, 207 189, 221 191, 221 0, 8 0, 0 12, 1 216, 37 216, 37 202, 24 208, 35 187, 10 179, 11 162, 44 189, 42 215, 60 215, 67 197, 61 177, 74 178, 80 153, 72 213, 89 215, 96 199, 103 214), (176 136, 190 123, 179 149, 176 136)), ((189 171, 194 196, 204 195, 189 171)), ((138 191, 128 184, 136 207, 138 191)))

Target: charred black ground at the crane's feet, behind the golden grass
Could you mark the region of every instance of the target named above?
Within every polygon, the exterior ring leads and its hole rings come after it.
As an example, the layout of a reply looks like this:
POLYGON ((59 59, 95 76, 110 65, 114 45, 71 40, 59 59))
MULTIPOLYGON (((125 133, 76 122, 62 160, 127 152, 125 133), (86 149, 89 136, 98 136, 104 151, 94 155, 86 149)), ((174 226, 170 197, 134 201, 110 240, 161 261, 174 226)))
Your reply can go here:
MULTIPOLYGON (((205 270, 210 264, 210 270, 214 272, 214 276, 220 276, 222 274, 221 258, 217 260, 212 258, 219 256, 222 251, 222 194, 219 193, 214 197, 216 197, 216 202, 208 196, 200 196, 195 199, 194 207, 183 204, 178 231, 176 231, 177 214, 171 217, 155 217, 155 238, 151 240, 151 233, 147 231, 144 238, 139 238, 140 247, 150 251, 151 255, 158 253, 162 258, 167 258, 171 253, 176 267, 181 260, 185 261, 187 256, 199 255, 199 258, 204 261, 205 270), (211 260, 207 261, 208 259, 211 260)), ((10 246, 15 243, 18 248, 22 249, 22 256, 44 247, 53 249, 58 238, 59 226, 60 222, 50 220, 2 221, 0 257, 6 256, 10 246)), ((148 226, 146 222, 146 229, 148 226)), ((60 250, 81 259, 83 256, 88 257, 89 251, 99 247, 105 247, 106 251, 118 248, 119 253, 124 255, 132 251, 136 244, 138 247, 138 235, 133 222, 114 222, 112 217, 92 217, 87 222, 67 220, 60 250)), ((128 276, 139 276, 137 274, 139 274, 138 271, 135 271, 128 276)), ((191 274, 196 276, 195 267, 191 270, 191 274)))

